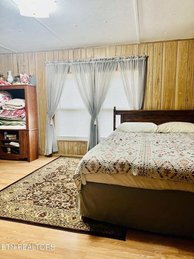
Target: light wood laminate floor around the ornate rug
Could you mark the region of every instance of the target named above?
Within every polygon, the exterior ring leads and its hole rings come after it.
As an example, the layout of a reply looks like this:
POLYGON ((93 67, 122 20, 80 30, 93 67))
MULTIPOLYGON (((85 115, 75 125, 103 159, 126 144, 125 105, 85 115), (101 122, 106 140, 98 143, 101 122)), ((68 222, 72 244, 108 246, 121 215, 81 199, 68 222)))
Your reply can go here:
MULTIPOLYGON (((55 157, 54 157, 55 158, 55 157)), ((17 181, 54 158, 28 163, 0 160, 0 188, 17 181)), ((54 244, 54 250, 0 250, 0 258, 194 258, 194 240, 128 230, 126 241, 0 220, 1 244, 54 244)))

